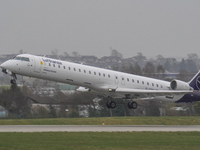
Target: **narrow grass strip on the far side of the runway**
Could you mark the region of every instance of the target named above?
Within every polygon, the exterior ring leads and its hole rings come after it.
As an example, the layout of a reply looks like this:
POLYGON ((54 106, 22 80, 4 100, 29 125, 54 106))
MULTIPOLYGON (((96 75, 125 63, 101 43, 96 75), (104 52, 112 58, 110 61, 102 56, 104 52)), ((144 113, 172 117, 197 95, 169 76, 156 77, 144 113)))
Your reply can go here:
POLYGON ((1 119, 0 125, 200 125, 200 117, 1 119))

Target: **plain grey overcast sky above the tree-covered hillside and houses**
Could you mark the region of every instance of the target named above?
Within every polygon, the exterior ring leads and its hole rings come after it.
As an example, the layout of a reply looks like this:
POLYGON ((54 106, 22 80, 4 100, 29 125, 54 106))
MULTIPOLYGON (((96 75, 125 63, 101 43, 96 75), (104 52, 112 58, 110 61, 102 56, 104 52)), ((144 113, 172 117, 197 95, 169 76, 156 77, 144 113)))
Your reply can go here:
POLYGON ((0 0, 0 54, 200 57, 199 0, 0 0))

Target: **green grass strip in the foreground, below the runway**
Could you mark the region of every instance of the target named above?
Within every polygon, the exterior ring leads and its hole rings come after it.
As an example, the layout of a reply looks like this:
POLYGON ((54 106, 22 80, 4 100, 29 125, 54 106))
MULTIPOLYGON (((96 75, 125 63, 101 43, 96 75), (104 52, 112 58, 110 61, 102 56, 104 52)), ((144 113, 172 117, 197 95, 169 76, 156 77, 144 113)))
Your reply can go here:
POLYGON ((200 132, 0 133, 4 150, 195 150, 200 132))

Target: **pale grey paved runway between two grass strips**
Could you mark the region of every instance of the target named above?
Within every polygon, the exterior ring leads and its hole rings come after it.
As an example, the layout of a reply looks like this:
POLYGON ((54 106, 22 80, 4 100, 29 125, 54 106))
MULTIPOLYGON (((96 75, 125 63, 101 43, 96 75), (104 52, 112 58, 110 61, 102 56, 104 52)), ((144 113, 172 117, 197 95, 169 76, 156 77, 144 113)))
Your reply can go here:
POLYGON ((0 125, 0 132, 200 132, 200 125, 0 125))

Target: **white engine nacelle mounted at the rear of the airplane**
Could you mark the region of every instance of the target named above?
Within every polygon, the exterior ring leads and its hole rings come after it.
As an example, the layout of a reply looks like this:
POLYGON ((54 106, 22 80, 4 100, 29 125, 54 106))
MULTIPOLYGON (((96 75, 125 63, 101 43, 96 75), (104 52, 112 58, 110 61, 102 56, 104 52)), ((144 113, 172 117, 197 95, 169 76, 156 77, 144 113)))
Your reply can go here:
POLYGON ((188 83, 180 80, 172 80, 170 87, 172 90, 192 90, 192 87, 188 83))

